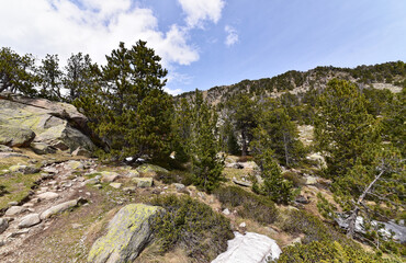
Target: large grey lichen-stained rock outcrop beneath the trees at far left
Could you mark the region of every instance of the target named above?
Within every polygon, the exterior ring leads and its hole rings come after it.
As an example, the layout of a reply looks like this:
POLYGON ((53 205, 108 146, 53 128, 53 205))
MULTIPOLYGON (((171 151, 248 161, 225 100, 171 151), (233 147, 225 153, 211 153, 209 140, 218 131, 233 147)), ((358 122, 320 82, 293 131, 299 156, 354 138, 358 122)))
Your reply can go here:
POLYGON ((45 99, 26 99, 0 94, 0 144, 33 148, 37 153, 56 149, 93 150, 87 117, 75 106, 45 99), (84 133, 84 134, 83 134, 84 133))

